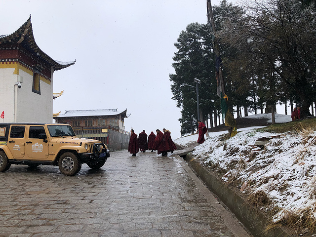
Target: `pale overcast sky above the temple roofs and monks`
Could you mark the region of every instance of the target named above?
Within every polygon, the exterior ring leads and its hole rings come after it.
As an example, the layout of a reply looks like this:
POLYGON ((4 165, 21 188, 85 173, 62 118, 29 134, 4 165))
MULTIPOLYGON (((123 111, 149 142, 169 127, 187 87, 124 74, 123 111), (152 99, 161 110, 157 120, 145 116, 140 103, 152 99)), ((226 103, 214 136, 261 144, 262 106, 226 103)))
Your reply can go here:
POLYGON ((207 22, 206 0, 0 0, 0 35, 30 14, 43 52, 77 60, 54 73, 53 90, 64 94, 53 101, 53 113, 127 109, 125 130, 149 135, 166 128, 173 140, 180 137, 169 80, 173 44, 188 24, 207 22))

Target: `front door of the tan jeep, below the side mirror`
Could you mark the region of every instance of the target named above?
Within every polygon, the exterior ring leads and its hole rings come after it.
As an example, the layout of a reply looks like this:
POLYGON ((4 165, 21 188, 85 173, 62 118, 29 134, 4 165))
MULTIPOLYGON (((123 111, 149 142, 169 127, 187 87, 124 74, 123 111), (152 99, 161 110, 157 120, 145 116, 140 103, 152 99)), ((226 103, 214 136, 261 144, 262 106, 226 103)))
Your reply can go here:
POLYGON ((40 134, 46 134, 44 126, 29 125, 25 139, 25 151, 27 156, 33 160, 43 160, 48 158, 48 142, 39 139, 40 134))

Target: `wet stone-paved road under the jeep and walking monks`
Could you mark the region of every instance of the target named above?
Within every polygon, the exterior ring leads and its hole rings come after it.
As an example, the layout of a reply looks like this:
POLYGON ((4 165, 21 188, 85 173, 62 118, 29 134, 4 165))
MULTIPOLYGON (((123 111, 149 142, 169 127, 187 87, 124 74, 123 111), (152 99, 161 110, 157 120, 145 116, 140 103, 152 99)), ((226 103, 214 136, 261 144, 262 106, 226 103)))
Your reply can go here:
POLYGON ((248 236, 178 156, 112 152, 72 177, 11 165, 0 184, 0 237, 248 236))

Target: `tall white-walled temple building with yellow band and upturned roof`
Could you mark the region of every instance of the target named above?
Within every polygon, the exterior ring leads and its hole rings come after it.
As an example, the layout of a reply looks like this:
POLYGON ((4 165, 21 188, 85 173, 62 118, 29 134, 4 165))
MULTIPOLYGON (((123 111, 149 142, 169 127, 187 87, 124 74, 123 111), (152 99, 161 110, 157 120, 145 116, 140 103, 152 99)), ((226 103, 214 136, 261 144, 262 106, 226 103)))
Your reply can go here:
POLYGON ((0 121, 52 122, 53 73, 75 62, 53 60, 39 48, 31 16, 12 34, 0 35, 0 121))

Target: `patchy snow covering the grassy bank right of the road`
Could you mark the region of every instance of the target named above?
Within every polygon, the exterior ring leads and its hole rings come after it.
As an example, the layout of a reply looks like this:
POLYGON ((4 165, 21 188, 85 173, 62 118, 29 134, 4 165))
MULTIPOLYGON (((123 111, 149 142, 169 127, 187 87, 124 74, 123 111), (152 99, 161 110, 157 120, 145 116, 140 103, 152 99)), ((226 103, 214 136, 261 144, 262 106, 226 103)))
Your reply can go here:
MULTIPOLYGON (((263 116, 267 115, 249 118, 263 116)), ((288 121, 290 116, 276 115, 276 122, 288 121)), ((209 133, 211 139, 196 146, 193 157, 219 174, 230 171, 223 180, 236 181, 237 188, 249 197, 265 194, 269 205, 262 208, 266 211, 277 208, 274 221, 289 213, 301 219, 306 216, 316 219, 316 131, 275 134, 264 129, 242 128, 235 137, 220 139, 224 133, 227 131, 209 133), (277 135, 280 137, 272 138, 263 150, 254 146, 258 138, 277 135)), ((197 137, 195 134, 175 142, 185 146, 197 141, 197 137)))

